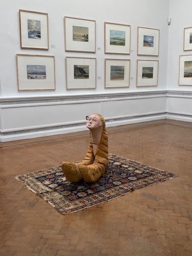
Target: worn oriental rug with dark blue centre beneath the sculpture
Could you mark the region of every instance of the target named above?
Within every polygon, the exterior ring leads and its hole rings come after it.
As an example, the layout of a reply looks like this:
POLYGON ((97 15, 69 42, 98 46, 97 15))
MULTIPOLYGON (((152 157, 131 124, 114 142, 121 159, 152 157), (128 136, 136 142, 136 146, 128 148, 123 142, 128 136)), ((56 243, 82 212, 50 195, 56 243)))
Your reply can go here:
POLYGON ((176 176, 171 172, 109 154, 106 172, 94 183, 68 182, 61 166, 18 175, 16 179, 46 200, 58 212, 68 214, 176 176))

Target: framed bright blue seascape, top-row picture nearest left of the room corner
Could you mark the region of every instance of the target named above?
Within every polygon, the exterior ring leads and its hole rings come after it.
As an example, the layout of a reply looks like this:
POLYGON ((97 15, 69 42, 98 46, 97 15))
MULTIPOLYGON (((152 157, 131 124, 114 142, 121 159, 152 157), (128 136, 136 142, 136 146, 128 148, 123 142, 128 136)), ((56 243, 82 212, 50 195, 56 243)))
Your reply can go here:
POLYGON ((137 28, 137 55, 159 55, 159 29, 137 28))

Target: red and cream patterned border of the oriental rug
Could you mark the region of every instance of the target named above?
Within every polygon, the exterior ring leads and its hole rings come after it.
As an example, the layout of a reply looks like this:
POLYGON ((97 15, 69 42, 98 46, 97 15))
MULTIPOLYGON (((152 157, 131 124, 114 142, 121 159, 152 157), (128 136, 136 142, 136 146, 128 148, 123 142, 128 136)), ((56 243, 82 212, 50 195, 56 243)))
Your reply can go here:
MULTIPOLYGON (((48 186, 45 186, 45 189, 44 190, 42 189, 41 191, 39 191, 39 190, 34 188, 34 185, 35 185, 35 182, 33 180, 34 178, 37 178, 38 176, 40 177, 40 176, 43 176, 43 175, 53 174, 55 172, 62 172, 62 169, 61 169, 60 165, 59 166, 50 167, 50 168, 46 168, 46 169, 42 169, 42 170, 38 170, 38 171, 35 171, 35 172, 30 172, 28 174, 22 174, 22 175, 19 174, 15 178, 16 178, 16 180, 19 180, 20 182, 22 182, 22 184, 24 184, 34 194, 40 196, 42 199, 47 201, 59 213, 61 213, 61 214, 69 214, 69 213, 72 213, 72 212, 78 212, 79 210, 90 208, 92 206, 95 206, 95 205, 98 205, 98 204, 101 204, 101 203, 113 200, 113 199, 118 198, 118 197, 120 197, 122 195, 128 194, 128 193, 130 193, 133 190, 137 190, 137 189, 144 188, 144 187, 147 187, 147 186, 152 186, 154 184, 158 184, 158 183, 160 183, 162 181, 169 180, 169 179, 172 179, 172 178, 175 178, 175 177, 178 176, 176 174, 173 174, 172 172, 166 172, 164 170, 161 170, 161 169, 158 169, 158 168, 154 168, 154 167, 148 166, 146 164, 142 164, 142 163, 137 162, 135 160, 129 160, 127 158, 123 158, 123 157, 117 156, 115 154, 108 154, 108 156, 109 156, 109 160, 110 160, 110 158, 114 158, 114 159, 117 159, 117 162, 118 162, 118 160, 120 159, 121 162, 124 162, 125 164, 129 163, 131 166, 135 166, 135 167, 140 166, 140 168, 142 168, 142 170, 144 170, 144 171, 146 170, 146 172, 148 171, 148 172, 150 172, 150 173, 152 173, 154 175, 160 175, 161 178, 159 178, 158 180, 156 180, 154 182, 154 180, 152 178, 146 177, 146 182, 143 182, 143 184, 140 184, 140 180, 135 180, 135 181, 132 181, 130 183, 124 184, 124 188, 125 189, 122 190, 122 191, 119 190, 118 192, 116 192, 116 187, 111 188, 110 192, 113 192, 113 190, 114 190, 114 194, 110 195, 111 198, 107 198, 107 200, 103 199, 100 202, 94 203, 93 205, 82 206, 82 208, 78 208, 76 210, 72 210, 71 212, 66 212, 66 210, 64 210, 64 208, 62 208, 60 206, 59 202, 55 202, 55 200, 53 198, 49 197, 49 192, 50 192, 50 194, 54 195, 55 198, 57 198, 58 196, 61 197, 61 195, 58 195, 58 191, 54 190, 54 188, 48 188, 48 186)), ((40 181, 36 181, 36 182, 41 183, 40 181)), ((108 195, 108 197, 109 197, 109 195, 108 195)))

